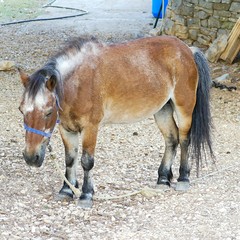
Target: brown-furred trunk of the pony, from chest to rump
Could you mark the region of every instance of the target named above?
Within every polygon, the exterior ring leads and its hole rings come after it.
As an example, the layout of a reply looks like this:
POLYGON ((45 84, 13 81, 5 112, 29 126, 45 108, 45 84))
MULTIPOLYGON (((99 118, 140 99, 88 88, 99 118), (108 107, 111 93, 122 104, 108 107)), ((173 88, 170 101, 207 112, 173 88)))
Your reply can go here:
POLYGON ((86 59, 65 79, 63 124, 78 131, 89 122, 141 120, 157 112, 171 91, 179 111, 191 116, 198 76, 192 52, 182 42, 161 37, 100 48, 95 69, 86 59), (78 81, 77 94, 68 89, 73 81, 78 81))

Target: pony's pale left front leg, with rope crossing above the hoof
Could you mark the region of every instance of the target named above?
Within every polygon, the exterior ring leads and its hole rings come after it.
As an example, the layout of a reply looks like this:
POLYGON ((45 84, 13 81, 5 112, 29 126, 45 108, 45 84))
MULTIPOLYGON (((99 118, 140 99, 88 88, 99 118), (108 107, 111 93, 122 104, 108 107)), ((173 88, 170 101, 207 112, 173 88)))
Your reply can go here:
MULTIPOLYGON (((78 182, 76 178, 76 169, 78 162, 78 133, 70 132, 64 129, 60 125, 60 133, 65 147, 65 163, 66 171, 65 177, 67 180, 75 187, 78 188, 78 182)), ((61 198, 70 197, 73 198, 74 193, 68 184, 64 181, 63 187, 59 191, 59 196, 61 198)))

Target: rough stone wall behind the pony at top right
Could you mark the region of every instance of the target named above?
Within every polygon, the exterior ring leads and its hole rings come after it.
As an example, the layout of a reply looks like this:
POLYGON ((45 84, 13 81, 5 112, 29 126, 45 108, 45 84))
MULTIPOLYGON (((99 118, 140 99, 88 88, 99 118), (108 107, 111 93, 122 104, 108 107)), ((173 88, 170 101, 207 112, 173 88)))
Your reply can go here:
POLYGON ((229 34, 240 17, 240 0, 170 0, 164 32, 209 46, 219 35, 229 34))

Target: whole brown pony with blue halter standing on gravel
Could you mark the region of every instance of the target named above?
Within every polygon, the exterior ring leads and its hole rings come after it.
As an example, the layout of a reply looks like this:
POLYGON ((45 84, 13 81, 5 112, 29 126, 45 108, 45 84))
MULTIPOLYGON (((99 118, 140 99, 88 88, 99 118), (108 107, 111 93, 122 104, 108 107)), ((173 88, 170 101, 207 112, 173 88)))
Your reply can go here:
MULTIPOLYGON (((22 71, 20 75, 25 87, 19 107, 26 129, 24 159, 31 166, 42 165, 59 117, 65 176, 78 187, 76 166, 81 133, 82 207, 92 206, 90 170, 102 124, 130 123, 154 115, 165 139, 158 186, 170 186, 178 144, 181 160, 176 190, 189 187, 189 152, 197 166, 206 147, 212 154, 208 65, 197 48, 189 48, 175 37, 113 45, 75 39, 31 76, 22 71)), ((73 197, 65 182, 60 195, 73 197)))

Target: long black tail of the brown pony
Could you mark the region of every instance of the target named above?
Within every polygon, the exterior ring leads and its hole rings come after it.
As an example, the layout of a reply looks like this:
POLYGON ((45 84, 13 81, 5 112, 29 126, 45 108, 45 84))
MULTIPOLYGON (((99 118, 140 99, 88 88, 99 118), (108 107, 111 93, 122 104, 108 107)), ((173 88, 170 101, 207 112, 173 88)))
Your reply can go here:
POLYGON ((198 88, 196 105, 192 116, 190 130, 190 147, 192 157, 196 159, 197 175, 203 156, 210 155, 214 159, 211 141, 212 119, 210 113, 210 88, 212 80, 204 54, 198 48, 190 48, 198 69, 198 88))

